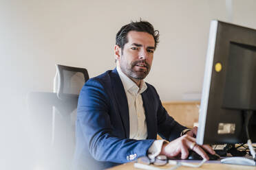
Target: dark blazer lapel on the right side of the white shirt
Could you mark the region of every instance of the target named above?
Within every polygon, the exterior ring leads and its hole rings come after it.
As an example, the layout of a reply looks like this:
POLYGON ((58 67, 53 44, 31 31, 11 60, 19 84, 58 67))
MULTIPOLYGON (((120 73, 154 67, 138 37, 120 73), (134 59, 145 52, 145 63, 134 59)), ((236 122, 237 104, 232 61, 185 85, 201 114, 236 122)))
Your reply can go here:
MULTIPOLYGON (((152 98, 152 97, 151 97, 152 98)), ((149 89, 142 93, 143 106, 145 108, 145 117, 147 122, 147 138, 156 139, 157 125, 156 115, 153 114, 153 102, 149 98, 149 89)))

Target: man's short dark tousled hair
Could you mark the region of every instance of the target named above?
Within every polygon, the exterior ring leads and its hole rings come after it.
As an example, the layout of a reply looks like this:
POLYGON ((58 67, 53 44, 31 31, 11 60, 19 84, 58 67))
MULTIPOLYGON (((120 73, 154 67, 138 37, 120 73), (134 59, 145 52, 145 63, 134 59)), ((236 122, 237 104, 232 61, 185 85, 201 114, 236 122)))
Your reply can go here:
POLYGON ((122 50, 125 44, 128 42, 127 34, 130 31, 136 31, 136 32, 147 32, 153 36, 153 39, 155 40, 155 49, 159 42, 159 31, 155 30, 153 28, 153 25, 149 23, 148 21, 136 21, 124 25, 121 27, 119 32, 116 34, 116 45, 118 45, 122 50))

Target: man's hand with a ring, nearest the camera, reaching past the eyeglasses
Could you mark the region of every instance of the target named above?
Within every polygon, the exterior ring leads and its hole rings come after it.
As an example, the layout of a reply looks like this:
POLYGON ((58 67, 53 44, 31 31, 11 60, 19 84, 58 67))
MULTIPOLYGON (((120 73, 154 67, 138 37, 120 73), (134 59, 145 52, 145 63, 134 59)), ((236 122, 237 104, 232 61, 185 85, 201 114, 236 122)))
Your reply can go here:
POLYGON ((189 149, 192 149, 202 156, 202 158, 209 160, 209 156, 202 148, 204 148, 210 154, 215 154, 215 151, 213 151, 213 148, 211 148, 209 145, 199 146, 195 144, 195 138, 185 134, 184 136, 176 138, 170 143, 164 143, 162 145, 160 155, 165 155, 168 158, 180 157, 182 159, 186 159, 189 156, 189 149))

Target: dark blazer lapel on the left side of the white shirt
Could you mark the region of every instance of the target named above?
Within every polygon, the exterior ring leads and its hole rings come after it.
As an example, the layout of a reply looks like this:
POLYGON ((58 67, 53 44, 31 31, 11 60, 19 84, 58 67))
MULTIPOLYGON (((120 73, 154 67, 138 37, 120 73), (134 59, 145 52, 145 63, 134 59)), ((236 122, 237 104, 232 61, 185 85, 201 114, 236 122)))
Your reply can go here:
POLYGON ((128 107, 127 97, 125 94, 125 88, 122 85, 122 81, 120 80, 120 77, 116 69, 114 69, 112 73, 113 74, 111 74, 111 86, 114 91, 114 96, 116 98, 116 106, 120 113, 122 124, 124 125, 124 128, 125 128, 125 136, 126 138, 129 138, 129 131, 130 131, 129 107, 128 107))

